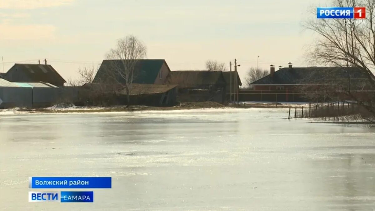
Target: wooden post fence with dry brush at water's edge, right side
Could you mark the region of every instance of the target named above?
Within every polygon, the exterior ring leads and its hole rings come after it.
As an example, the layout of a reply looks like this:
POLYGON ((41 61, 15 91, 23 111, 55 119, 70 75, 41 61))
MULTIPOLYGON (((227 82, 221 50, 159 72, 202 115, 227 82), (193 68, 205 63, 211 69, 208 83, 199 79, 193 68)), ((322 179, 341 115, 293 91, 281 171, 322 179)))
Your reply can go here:
POLYGON ((360 105, 357 102, 338 101, 327 103, 309 103, 308 106, 289 108, 288 119, 321 118, 358 114, 360 105))

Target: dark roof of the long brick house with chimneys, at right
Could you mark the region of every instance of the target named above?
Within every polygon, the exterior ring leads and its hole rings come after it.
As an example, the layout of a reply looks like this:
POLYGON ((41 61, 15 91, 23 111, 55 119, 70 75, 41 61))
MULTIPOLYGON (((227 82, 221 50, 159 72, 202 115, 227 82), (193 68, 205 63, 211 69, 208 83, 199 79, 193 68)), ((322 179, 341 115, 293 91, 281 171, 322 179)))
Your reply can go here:
POLYGON ((275 71, 273 76, 267 75, 251 84, 324 84, 330 80, 348 78, 349 75, 352 79, 366 78, 355 67, 282 68, 275 71))

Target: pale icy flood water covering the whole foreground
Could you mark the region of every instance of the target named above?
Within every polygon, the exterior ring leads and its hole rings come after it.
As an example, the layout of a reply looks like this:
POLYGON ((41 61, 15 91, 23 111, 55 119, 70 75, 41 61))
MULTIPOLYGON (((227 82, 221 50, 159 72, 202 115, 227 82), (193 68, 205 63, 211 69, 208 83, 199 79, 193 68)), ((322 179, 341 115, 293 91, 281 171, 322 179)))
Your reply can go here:
POLYGON ((0 210, 374 210, 375 128, 287 115, 1 115, 0 210), (31 176, 111 176, 112 189, 29 203, 31 176))

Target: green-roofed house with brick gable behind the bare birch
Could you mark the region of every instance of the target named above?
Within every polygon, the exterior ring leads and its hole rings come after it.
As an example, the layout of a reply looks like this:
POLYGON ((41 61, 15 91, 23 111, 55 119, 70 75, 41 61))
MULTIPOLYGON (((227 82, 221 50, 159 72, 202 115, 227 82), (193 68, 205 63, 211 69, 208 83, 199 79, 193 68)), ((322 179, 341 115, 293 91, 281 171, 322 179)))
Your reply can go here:
MULTIPOLYGON (((113 80, 112 75, 116 77, 116 81, 125 83, 124 78, 114 71, 117 67, 124 67, 121 60, 103 60, 93 83, 113 80)), ((139 59, 134 69, 135 78, 132 83, 138 84, 165 84, 166 77, 171 71, 164 59, 139 59)))

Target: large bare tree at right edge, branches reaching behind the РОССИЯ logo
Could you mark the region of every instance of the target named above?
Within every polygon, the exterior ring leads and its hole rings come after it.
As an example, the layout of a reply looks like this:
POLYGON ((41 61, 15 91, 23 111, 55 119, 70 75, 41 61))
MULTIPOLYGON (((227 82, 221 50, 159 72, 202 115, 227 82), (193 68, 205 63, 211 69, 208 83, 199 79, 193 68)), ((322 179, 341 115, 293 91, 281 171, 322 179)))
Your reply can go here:
MULTIPOLYGON (((313 64, 333 65, 356 68, 366 82, 356 86, 368 92, 367 98, 359 97, 358 88, 353 90, 351 78, 348 76, 347 85, 341 86, 351 99, 356 100, 370 113, 375 115, 375 0, 333 0, 333 5, 339 7, 366 7, 366 18, 355 19, 317 19, 305 22, 305 28, 314 31, 319 38, 308 53, 309 62, 313 64)), ((350 74, 348 74, 350 75, 350 74)), ((334 79, 332 74, 327 78, 334 79)), ((319 79, 321 80, 321 78, 319 79)), ((338 80, 336 80, 338 81, 338 80)))

